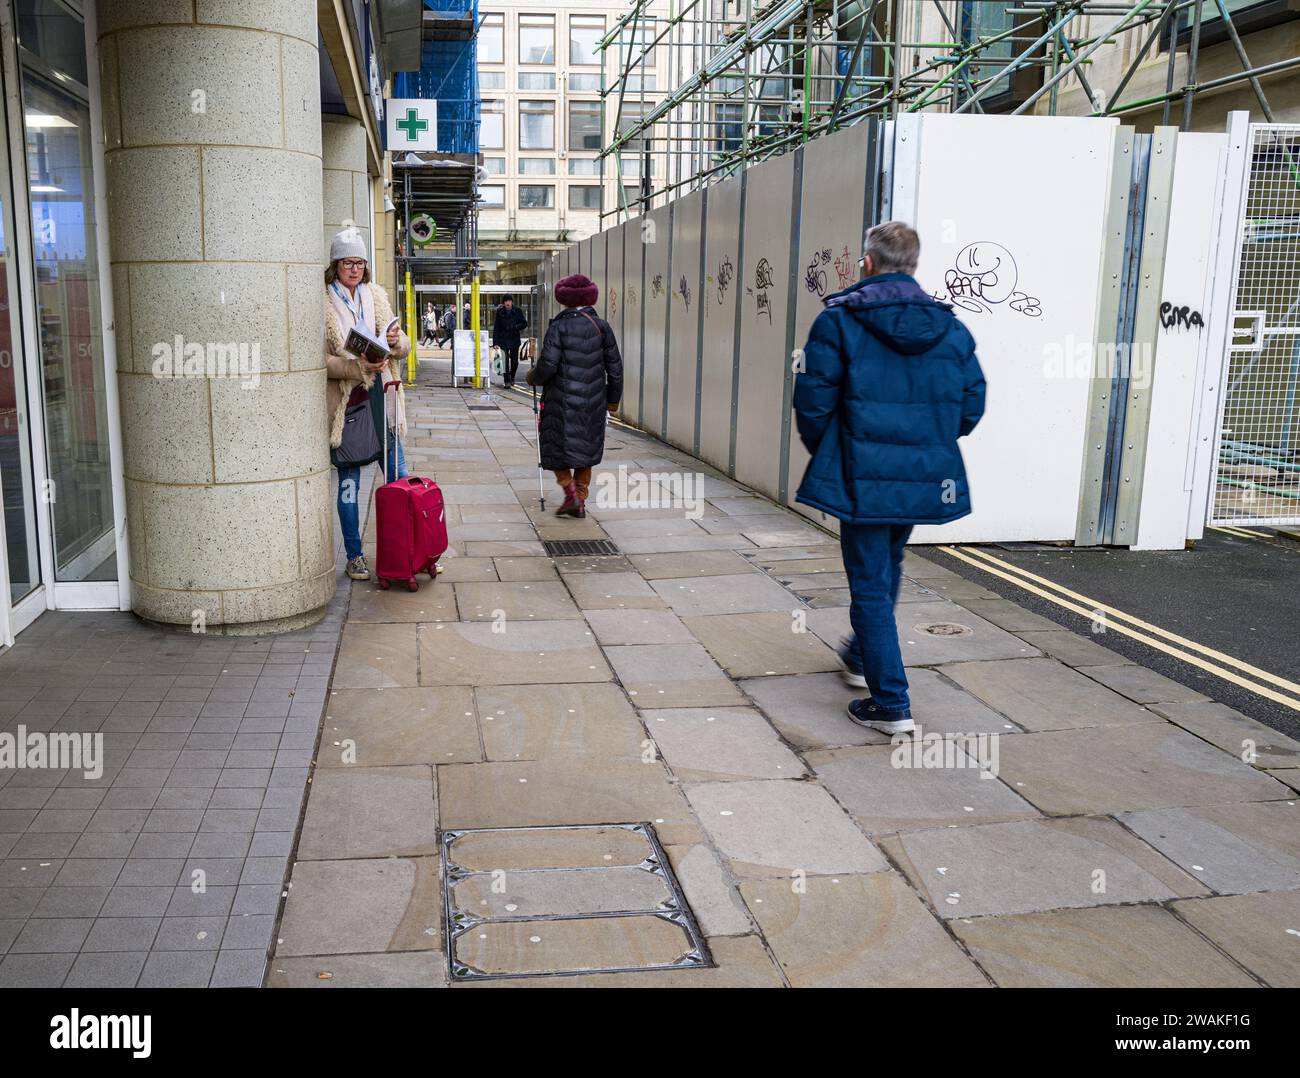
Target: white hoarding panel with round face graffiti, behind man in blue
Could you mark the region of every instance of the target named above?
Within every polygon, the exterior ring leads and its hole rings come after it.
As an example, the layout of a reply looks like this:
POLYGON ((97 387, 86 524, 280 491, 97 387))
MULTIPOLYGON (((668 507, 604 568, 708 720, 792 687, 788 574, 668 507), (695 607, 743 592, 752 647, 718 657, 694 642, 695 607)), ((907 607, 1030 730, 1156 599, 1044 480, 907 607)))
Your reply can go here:
POLYGON ((927 114, 919 156, 896 152, 894 207, 913 207, 916 278, 975 335, 988 408, 962 441, 974 512, 918 528, 914 542, 1071 540, 1114 124, 927 114))

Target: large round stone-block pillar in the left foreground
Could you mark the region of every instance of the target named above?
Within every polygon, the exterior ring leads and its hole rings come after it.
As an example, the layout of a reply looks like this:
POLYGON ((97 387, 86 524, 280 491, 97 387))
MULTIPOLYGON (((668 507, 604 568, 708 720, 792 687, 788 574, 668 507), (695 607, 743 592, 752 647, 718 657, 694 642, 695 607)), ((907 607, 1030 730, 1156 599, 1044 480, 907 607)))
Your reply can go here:
POLYGON ((296 628, 334 592, 316 3, 98 12, 133 607, 296 628))

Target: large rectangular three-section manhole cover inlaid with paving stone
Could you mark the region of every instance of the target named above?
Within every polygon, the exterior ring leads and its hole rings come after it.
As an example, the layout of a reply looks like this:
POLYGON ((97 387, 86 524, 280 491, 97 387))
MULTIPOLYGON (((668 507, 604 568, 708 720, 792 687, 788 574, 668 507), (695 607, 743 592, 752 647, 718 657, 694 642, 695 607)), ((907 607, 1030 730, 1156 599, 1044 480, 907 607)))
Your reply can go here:
POLYGON ((452 980, 714 965, 649 823, 447 831, 441 847, 452 980))

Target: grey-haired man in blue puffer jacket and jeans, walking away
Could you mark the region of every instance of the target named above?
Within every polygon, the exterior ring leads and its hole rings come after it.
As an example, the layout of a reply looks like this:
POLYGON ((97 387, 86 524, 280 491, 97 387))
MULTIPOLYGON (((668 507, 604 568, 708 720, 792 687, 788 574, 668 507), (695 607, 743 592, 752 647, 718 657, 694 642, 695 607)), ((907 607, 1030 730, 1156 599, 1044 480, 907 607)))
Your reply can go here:
POLYGON ((864 280, 826 299, 794 386, 812 455, 796 495, 837 516, 854 638, 845 680, 870 689, 849 718, 885 733, 914 730, 893 607, 915 524, 971 511, 957 440, 984 414, 975 339, 913 278, 920 239, 901 221, 867 233, 864 280))

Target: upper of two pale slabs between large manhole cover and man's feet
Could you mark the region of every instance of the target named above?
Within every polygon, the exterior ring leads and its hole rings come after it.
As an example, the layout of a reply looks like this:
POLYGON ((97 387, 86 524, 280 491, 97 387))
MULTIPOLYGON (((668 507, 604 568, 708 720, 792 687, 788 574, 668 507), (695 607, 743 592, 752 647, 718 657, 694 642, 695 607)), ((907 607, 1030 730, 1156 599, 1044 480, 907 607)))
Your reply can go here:
POLYGON ((663 707, 647 713, 645 722, 659 754, 685 783, 807 774, 750 707, 663 707))

